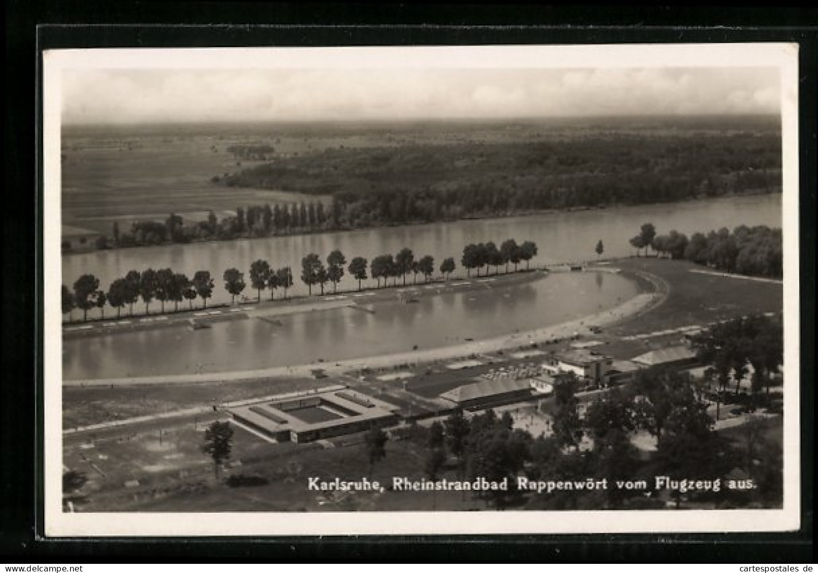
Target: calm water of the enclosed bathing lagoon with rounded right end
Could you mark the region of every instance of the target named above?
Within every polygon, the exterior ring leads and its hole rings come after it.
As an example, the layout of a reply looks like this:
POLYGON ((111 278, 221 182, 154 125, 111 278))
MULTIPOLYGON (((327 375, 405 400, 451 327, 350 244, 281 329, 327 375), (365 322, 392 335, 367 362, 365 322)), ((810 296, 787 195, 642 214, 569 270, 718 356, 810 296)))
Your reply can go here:
POLYGON ((516 287, 421 296, 306 314, 172 327, 65 341, 66 378, 227 372, 406 352, 532 330, 610 308, 636 295, 618 275, 555 273, 516 287))

